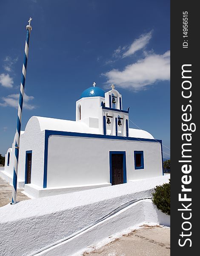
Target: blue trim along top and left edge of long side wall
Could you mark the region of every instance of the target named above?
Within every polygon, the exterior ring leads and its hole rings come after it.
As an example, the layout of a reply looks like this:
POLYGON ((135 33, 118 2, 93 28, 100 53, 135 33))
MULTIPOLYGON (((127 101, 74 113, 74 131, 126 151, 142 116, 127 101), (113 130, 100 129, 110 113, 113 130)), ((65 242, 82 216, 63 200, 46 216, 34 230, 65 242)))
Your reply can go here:
POLYGON ((162 143, 162 140, 154 140, 154 139, 143 139, 143 138, 133 138, 133 137, 126 137, 125 138, 125 137, 121 137, 121 136, 112 136, 112 135, 85 134, 85 133, 69 132, 69 131, 45 130, 43 188, 46 188, 46 186, 47 186, 48 139, 49 139, 49 136, 51 136, 51 135, 87 137, 87 138, 100 138, 100 139, 109 139, 109 140, 148 141, 148 142, 162 143))

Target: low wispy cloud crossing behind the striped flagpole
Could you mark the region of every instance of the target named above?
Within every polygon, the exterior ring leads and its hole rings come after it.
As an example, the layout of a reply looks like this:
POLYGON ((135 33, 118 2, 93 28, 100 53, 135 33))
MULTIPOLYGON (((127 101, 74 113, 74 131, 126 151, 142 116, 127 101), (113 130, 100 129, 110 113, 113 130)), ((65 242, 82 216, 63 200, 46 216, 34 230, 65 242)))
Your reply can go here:
MULTIPOLYGON (((0 106, 3 107, 13 107, 13 108, 18 108, 18 104, 19 104, 19 94, 10 94, 6 97, 2 97, 3 99, 3 103, 0 103, 0 106)), ((29 104, 29 101, 34 99, 33 96, 28 96, 26 95, 26 93, 24 93, 24 97, 23 97, 23 108, 32 110, 34 108, 36 108, 34 105, 29 104)))

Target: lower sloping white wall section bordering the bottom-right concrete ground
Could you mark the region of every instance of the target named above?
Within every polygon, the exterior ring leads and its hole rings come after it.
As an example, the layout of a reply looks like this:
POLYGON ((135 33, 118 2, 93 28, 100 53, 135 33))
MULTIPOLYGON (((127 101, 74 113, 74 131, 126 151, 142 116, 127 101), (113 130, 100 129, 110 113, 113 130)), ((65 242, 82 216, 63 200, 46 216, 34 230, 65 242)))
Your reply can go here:
POLYGON ((96 244, 104 244, 105 241, 109 242, 109 240, 112 241, 122 236, 123 233, 129 233, 131 230, 138 229, 143 224, 161 224, 169 227, 170 216, 157 210, 151 200, 145 199, 117 212, 73 238, 43 250, 37 255, 82 256, 83 252, 87 250, 86 247, 92 248, 96 244), (147 212, 148 214, 146 214, 147 212), (109 239, 109 237, 112 237, 112 239, 109 239))

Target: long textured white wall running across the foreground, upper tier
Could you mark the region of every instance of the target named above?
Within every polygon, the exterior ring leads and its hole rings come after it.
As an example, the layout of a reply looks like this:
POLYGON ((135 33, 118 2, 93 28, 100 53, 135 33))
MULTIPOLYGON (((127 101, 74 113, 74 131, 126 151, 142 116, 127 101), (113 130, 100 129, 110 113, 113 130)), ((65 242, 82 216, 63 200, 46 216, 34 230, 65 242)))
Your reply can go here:
POLYGON ((0 255, 27 256, 103 218, 131 200, 151 197, 170 175, 21 201, 0 208, 0 255))

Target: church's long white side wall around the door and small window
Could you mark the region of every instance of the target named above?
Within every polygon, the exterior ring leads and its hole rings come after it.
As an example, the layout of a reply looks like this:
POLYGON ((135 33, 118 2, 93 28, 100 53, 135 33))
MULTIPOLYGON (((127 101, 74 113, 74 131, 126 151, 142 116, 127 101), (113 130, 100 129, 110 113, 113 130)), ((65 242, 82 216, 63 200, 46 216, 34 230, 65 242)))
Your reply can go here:
POLYGON ((109 151, 126 151, 127 181, 162 175, 160 143, 52 135, 47 187, 109 183, 109 151), (144 151, 144 169, 134 169, 134 150, 144 151))

